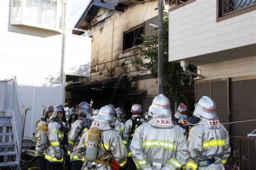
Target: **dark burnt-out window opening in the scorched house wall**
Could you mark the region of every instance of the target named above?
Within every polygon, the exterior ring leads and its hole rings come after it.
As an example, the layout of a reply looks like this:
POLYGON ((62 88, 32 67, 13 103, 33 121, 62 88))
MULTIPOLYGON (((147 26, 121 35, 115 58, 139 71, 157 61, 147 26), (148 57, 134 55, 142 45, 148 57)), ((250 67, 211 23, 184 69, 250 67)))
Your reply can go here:
POLYGON ((142 37, 141 34, 144 33, 144 27, 142 25, 135 27, 129 31, 124 32, 124 39, 123 39, 123 51, 126 49, 132 48, 136 45, 142 44, 142 37))

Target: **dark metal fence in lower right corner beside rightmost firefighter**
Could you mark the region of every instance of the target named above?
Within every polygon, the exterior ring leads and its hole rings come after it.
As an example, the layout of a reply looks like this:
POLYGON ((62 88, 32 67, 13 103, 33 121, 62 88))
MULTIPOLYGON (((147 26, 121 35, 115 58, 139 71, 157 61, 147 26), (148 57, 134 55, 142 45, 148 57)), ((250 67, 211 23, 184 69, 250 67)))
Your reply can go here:
POLYGON ((256 169, 256 138, 230 136, 231 154, 225 169, 256 169))

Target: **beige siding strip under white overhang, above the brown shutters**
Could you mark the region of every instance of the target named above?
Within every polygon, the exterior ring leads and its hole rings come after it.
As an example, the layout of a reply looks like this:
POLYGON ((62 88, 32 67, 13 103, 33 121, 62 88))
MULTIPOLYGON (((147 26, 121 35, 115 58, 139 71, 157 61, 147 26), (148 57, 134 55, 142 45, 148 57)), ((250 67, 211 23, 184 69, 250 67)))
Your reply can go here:
POLYGON ((205 76, 203 80, 256 75, 256 56, 200 65, 198 68, 205 76))

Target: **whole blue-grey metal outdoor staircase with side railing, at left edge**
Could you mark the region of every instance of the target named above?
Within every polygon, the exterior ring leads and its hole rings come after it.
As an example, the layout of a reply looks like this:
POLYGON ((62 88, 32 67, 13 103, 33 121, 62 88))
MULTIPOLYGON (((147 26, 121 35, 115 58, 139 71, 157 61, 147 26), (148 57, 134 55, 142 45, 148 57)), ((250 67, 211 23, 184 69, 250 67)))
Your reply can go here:
POLYGON ((0 169, 20 169, 23 121, 16 77, 0 81, 0 169))

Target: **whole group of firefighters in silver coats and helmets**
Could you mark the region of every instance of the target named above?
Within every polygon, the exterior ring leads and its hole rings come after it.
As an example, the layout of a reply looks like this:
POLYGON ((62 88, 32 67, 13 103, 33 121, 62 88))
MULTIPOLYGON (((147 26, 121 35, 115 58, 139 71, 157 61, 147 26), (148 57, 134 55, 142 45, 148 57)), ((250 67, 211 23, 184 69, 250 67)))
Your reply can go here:
POLYGON ((133 104, 125 121, 113 104, 50 105, 36 125, 39 169, 224 169, 230 141, 215 109, 203 96, 193 114, 181 103, 172 119, 169 99, 160 94, 145 115, 133 104))

